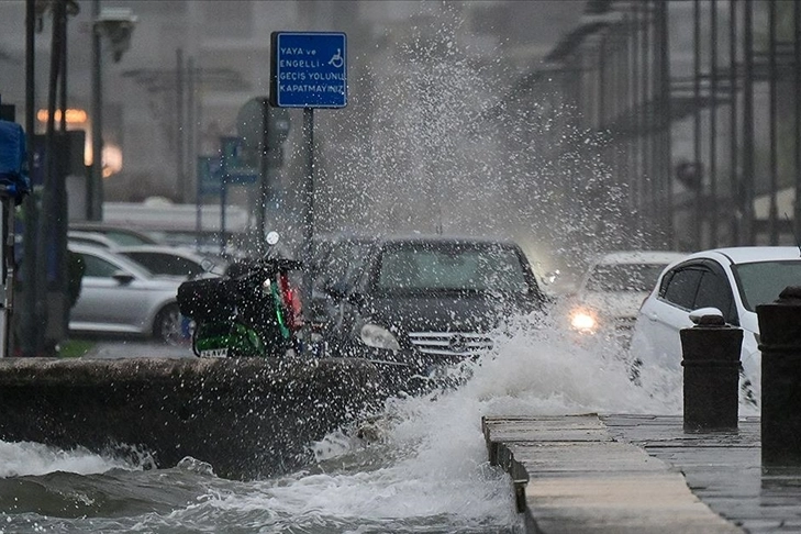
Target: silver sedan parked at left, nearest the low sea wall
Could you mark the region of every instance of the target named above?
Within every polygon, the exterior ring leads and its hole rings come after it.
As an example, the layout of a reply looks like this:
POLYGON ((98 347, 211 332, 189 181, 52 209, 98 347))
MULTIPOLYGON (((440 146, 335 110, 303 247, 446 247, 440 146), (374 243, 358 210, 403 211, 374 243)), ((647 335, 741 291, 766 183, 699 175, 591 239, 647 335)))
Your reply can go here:
POLYGON ((68 247, 85 264, 80 294, 69 313, 70 332, 134 334, 168 343, 182 338, 176 303, 180 279, 155 276, 109 249, 68 247))

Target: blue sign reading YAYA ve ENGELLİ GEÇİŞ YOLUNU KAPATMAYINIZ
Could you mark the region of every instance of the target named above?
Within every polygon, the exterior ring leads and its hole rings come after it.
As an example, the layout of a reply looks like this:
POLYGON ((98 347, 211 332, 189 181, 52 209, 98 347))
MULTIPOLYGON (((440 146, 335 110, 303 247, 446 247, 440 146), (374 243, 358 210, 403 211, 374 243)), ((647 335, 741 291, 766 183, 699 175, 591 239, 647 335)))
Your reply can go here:
POLYGON ((272 32, 271 36, 272 105, 347 105, 347 40, 344 33, 272 32))

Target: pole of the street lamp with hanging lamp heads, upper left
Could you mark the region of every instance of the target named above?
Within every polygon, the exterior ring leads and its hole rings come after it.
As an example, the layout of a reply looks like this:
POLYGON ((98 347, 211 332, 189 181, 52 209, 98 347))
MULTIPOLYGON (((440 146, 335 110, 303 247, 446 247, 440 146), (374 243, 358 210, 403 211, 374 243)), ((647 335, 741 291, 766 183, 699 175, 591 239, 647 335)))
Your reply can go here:
POLYGON ((92 1, 92 165, 89 180, 90 221, 103 220, 103 84, 100 30, 97 20, 100 16, 100 0, 92 1))

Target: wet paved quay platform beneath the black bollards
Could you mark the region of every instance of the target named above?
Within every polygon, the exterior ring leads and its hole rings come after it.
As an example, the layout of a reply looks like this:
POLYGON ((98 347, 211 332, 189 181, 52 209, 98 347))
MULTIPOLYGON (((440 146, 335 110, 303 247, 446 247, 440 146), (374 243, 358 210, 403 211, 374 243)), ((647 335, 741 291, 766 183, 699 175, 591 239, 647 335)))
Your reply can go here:
POLYGON ((681 416, 485 418, 534 533, 801 532, 801 474, 761 468, 759 419, 685 433, 681 416))

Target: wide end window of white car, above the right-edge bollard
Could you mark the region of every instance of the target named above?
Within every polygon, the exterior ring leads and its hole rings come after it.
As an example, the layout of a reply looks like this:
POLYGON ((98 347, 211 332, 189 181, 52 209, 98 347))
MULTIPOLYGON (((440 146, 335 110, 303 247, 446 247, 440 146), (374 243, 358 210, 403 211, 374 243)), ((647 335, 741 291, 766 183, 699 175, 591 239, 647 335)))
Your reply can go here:
POLYGON ((758 262, 733 267, 746 310, 774 302, 788 286, 801 286, 801 260, 758 262))

